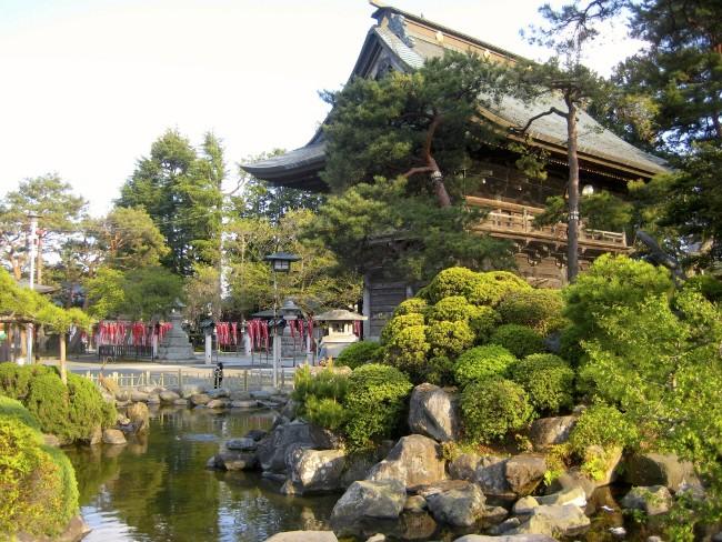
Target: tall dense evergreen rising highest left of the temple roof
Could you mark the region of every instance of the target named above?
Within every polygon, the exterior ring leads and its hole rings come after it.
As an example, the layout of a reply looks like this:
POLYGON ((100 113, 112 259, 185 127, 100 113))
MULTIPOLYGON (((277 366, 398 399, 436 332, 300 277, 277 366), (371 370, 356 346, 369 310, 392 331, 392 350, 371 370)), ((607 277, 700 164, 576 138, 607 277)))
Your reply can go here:
POLYGON ((138 161, 118 205, 148 212, 170 249, 163 265, 188 277, 194 263, 219 261, 224 177, 222 148, 213 134, 205 134, 199 157, 188 139, 168 130, 138 161))

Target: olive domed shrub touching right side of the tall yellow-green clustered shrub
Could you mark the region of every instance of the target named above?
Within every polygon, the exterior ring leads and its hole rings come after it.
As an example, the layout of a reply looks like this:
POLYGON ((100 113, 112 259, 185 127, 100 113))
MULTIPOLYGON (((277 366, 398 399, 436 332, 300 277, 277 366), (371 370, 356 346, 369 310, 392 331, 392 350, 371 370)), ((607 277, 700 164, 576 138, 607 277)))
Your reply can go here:
POLYGON ((555 331, 563 322, 562 309, 563 300, 559 290, 509 292, 497 307, 504 323, 527 325, 542 335, 555 331))

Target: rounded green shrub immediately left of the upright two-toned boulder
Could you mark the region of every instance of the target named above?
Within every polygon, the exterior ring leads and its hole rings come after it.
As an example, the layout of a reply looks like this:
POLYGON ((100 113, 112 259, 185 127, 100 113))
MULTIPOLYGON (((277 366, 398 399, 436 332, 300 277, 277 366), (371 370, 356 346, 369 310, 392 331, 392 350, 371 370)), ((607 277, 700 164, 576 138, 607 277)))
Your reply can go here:
POLYGON ((344 401, 349 448, 365 449, 394 435, 405 419, 412 388, 409 379, 393 367, 369 363, 354 369, 344 401))

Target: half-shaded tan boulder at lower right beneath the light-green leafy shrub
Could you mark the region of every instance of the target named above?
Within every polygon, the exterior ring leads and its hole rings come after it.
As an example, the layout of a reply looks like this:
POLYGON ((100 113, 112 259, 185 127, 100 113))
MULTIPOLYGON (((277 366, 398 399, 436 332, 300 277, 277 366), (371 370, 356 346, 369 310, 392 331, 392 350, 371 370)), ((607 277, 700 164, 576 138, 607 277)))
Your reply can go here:
POLYGON ((689 485, 700 485, 692 463, 680 461, 673 453, 632 455, 624 465, 624 480, 632 485, 664 485, 673 492, 689 485))

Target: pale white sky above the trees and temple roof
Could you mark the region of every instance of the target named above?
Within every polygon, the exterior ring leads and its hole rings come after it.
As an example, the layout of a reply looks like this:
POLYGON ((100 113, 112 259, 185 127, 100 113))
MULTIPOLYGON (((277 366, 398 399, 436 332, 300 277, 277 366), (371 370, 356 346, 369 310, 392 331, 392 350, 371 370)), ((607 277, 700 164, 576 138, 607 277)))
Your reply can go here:
MULTIPOLYGON (((387 3, 524 57, 541 0, 387 3)), ((559 1, 556 1, 559 3, 559 1)), ((0 0, 0 197, 57 172, 106 213, 167 129, 223 141, 239 162, 313 136, 320 90, 349 78, 374 8, 365 0, 0 0)), ((590 50, 602 74, 639 44, 619 24, 590 50)))

